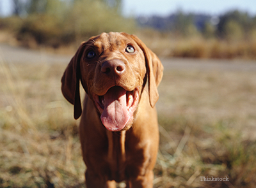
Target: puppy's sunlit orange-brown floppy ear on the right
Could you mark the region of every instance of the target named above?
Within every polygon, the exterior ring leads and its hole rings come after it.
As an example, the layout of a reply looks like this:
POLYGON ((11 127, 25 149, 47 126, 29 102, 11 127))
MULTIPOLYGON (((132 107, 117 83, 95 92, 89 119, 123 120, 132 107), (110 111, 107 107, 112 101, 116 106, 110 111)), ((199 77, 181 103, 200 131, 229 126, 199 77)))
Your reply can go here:
POLYGON ((163 64, 157 55, 154 54, 137 36, 131 35, 131 37, 134 41, 136 41, 145 56, 148 74, 148 94, 150 105, 153 108, 159 98, 157 87, 163 77, 163 64))

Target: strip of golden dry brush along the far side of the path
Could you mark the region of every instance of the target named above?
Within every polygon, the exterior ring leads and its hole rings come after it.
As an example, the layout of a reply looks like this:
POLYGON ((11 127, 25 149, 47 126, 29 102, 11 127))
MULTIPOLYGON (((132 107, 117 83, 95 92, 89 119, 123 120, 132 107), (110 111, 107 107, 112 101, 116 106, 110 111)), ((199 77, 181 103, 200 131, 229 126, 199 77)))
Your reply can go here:
MULTIPOLYGON (((117 31, 117 30, 116 30, 117 31)), ((129 31, 128 31, 129 32, 129 31)), ((100 34, 95 33, 95 35, 100 34)), ((202 35, 180 38, 172 33, 159 33, 157 31, 137 30, 136 35, 159 57, 190 57, 199 59, 256 59, 256 38, 250 40, 219 40, 217 38, 205 39, 202 35)), ((79 38, 74 43, 58 45, 40 45, 33 38, 17 40, 12 31, 0 31, 0 42, 14 46, 23 46, 32 49, 45 48, 45 50, 58 54, 74 54, 77 45, 88 37, 79 38)), ((61 41, 58 41, 61 44, 61 41)))

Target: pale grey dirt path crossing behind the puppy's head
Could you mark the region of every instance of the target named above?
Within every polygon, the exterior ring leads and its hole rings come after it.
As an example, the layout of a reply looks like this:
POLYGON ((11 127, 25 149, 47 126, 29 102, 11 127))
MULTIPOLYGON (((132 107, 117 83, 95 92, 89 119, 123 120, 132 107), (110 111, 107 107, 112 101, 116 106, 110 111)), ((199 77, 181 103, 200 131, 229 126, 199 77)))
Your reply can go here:
MULTIPOLYGON (((0 58, 12 63, 56 63, 68 64, 72 55, 49 54, 44 50, 28 50, 0 44, 0 58)), ((216 71, 256 71, 256 61, 247 60, 205 60, 205 59, 166 59, 162 58, 164 69, 177 70, 216 70, 216 71)))

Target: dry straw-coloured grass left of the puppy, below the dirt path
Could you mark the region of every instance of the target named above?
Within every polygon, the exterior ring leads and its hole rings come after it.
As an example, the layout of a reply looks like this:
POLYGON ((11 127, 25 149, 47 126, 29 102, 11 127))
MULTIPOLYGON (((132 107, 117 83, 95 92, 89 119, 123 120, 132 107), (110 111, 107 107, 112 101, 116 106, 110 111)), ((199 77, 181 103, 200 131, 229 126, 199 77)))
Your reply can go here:
POLYGON ((84 187, 72 105, 60 92, 65 66, 0 68, 0 187, 84 187))

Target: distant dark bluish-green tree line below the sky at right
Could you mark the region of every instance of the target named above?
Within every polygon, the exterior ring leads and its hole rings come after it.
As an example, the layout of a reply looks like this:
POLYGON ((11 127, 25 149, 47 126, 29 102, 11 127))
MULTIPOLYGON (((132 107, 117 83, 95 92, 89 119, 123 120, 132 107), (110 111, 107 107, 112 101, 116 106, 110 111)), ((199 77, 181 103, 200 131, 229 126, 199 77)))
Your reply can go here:
POLYGON ((205 38, 225 40, 256 39, 256 15, 239 10, 227 11, 218 16, 177 11, 168 17, 138 17, 141 27, 172 32, 186 37, 202 34, 205 38))

